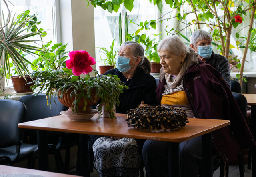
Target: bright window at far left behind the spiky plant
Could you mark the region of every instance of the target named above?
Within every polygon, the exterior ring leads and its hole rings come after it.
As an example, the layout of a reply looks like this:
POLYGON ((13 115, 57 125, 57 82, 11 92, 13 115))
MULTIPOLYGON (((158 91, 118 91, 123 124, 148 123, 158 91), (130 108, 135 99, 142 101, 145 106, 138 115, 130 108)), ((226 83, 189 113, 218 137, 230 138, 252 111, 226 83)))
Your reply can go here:
MULTIPOLYGON (((12 0, 11 3, 7 1, 8 8, 11 11, 11 15, 18 15, 24 12, 25 10, 30 10, 30 14, 37 14, 38 21, 41 21, 41 24, 38 27, 47 29, 47 35, 43 38, 43 42, 48 42, 52 40, 52 44, 56 42, 56 22, 55 22, 55 8, 54 0, 12 0)), ((8 14, 8 10, 4 2, 1 1, 0 8, 4 14, 8 14)), ((1 12, 2 13, 2 12, 1 12)), ((16 18, 15 16, 15 18, 16 18)), ((33 39, 40 40, 40 36, 35 36, 33 39)), ((30 62, 35 60, 36 56, 26 55, 26 59, 30 62)), ((28 67, 32 72, 33 70, 28 67)), ((5 80, 5 88, 12 87, 12 81, 5 80)))

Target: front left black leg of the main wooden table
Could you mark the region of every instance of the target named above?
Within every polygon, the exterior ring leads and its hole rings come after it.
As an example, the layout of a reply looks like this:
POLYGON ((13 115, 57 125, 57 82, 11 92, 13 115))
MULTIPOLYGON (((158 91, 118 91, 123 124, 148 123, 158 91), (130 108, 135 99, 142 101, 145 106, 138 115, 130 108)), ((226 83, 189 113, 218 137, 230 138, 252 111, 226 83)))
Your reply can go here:
POLYGON ((40 170, 49 171, 47 131, 37 130, 38 167, 40 170))

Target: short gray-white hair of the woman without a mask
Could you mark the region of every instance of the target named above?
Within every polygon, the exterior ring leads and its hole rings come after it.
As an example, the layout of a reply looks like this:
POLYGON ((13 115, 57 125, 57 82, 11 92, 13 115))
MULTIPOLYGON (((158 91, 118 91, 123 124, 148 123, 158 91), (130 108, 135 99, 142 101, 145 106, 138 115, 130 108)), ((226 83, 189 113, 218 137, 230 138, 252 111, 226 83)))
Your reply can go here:
POLYGON ((161 40, 157 45, 157 52, 160 50, 166 50, 178 56, 182 53, 185 55, 190 53, 186 44, 178 36, 170 36, 161 40))

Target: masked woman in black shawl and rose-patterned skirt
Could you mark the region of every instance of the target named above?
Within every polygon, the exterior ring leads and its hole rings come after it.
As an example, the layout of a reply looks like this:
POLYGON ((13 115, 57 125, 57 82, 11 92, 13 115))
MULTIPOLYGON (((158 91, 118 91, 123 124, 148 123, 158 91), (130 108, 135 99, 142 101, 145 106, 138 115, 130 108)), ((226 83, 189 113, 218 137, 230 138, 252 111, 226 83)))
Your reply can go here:
MULTIPOLYGON (((151 66, 144 57, 143 47, 137 42, 124 42, 118 51, 116 68, 105 74, 117 75, 128 86, 119 97, 116 113, 127 113, 142 101, 156 105, 156 80, 150 74, 151 66), (148 73, 147 73, 147 72, 148 73)), ((94 167, 101 177, 138 176, 144 140, 91 135, 94 167)))

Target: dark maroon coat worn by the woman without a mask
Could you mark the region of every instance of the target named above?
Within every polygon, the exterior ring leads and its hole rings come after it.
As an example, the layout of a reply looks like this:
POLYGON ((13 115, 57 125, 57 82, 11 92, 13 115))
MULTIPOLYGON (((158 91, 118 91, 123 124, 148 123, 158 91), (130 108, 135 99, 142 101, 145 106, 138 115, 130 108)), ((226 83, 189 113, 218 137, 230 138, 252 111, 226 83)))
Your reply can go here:
MULTIPOLYGON (((165 84, 165 78, 160 78, 156 89, 158 103, 165 84)), ((190 67, 184 75, 183 87, 196 118, 231 121, 228 127, 212 133, 214 146, 225 160, 237 159, 241 149, 256 145, 230 88, 212 66, 200 60, 190 67)))

